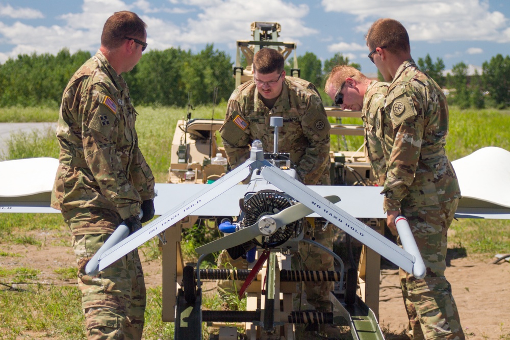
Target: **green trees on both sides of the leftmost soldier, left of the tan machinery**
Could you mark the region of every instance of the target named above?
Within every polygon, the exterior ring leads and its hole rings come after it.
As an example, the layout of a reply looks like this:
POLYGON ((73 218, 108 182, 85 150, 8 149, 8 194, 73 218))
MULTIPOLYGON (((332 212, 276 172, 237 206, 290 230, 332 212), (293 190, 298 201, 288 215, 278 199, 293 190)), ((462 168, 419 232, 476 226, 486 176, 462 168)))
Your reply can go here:
MULTIPOLYGON (((0 64, 0 107, 59 107, 69 79, 91 57, 64 48, 50 54, 19 55, 0 64)), ((184 107, 227 100, 235 79, 230 56, 207 45, 197 54, 168 48, 150 50, 132 71, 123 73, 135 105, 184 107)))

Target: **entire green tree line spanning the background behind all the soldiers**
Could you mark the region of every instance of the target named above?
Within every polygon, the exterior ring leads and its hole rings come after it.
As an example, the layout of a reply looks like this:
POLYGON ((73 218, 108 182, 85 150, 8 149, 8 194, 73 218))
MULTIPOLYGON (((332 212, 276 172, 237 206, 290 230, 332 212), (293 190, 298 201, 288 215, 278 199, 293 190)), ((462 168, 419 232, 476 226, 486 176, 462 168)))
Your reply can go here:
MULTIPOLYGON (((50 54, 19 55, 0 64, 0 107, 60 105, 62 92, 72 74, 89 58, 88 51, 70 54, 63 48, 50 54)), ((348 64, 361 70, 337 53, 322 62, 314 53, 298 56, 300 77, 323 88, 325 77, 335 65, 348 64)), ((444 75, 442 59, 427 55, 417 64, 442 88, 448 100, 461 108, 510 106, 510 57, 498 54, 484 62, 480 74, 468 75, 468 65, 458 63, 444 75)), ((286 66, 290 74, 290 64, 286 66)), ((150 50, 131 72, 123 74, 136 105, 184 107, 227 100, 234 90, 233 62, 224 51, 207 45, 197 54, 191 50, 168 48, 150 50), (213 96, 217 88, 217 95, 213 96)), ((379 74, 379 79, 381 79, 379 74)))

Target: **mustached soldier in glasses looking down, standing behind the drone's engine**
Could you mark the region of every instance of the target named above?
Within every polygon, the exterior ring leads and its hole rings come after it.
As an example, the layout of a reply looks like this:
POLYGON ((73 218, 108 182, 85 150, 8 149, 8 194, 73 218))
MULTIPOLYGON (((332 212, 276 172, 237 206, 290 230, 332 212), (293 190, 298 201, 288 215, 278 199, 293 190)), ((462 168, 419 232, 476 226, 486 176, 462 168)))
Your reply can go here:
MULTIPOLYGON (((270 126, 270 117, 283 117, 284 125, 278 130, 278 151, 290 153, 301 182, 329 185, 330 125, 315 86, 286 76, 284 58, 275 49, 259 50, 253 57, 253 70, 253 81, 238 87, 228 100, 225 123, 220 129, 228 163, 236 168, 245 162, 249 146, 257 139, 262 141, 264 150, 272 151, 274 128, 270 126)), ((309 226, 305 237, 333 248, 330 225, 325 230, 309 226)), ((300 248, 304 270, 333 270, 333 256, 308 244, 300 248)), ((308 302, 322 311, 331 309, 331 290, 332 282, 305 284, 308 302)))

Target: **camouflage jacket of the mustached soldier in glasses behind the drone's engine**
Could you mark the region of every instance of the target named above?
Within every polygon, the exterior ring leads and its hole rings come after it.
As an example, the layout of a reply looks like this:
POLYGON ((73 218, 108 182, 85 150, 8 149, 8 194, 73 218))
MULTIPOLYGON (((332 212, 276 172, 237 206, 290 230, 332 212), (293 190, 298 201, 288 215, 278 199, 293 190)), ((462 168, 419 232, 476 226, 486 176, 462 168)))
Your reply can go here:
POLYGON ((268 109, 253 81, 239 86, 228 100, 225 123, 220 129, 228 162, 235 168, 249 158, 249 145, 259 139, 272 151, 274 128, 270 118, 283 117, 278 129, 278 151, 289 152, 297 173, 307 185, 329 184, 329 129, 324 106, 315 86, 285 77, 283 89, 268 109))

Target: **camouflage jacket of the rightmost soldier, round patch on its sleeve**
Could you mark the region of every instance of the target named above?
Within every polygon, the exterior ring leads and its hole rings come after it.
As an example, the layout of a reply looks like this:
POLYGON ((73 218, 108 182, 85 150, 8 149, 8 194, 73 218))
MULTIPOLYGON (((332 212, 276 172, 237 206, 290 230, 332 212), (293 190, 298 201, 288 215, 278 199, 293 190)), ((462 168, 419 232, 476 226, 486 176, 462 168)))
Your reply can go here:
POLYGON ((385 210, 436 205, 460 197, 444 148, 448 135, 446 98, 413 60, 398 68, 384 110, 384 147, 390 153, 382 191, 385 210))

